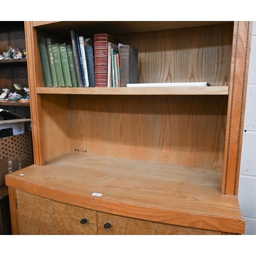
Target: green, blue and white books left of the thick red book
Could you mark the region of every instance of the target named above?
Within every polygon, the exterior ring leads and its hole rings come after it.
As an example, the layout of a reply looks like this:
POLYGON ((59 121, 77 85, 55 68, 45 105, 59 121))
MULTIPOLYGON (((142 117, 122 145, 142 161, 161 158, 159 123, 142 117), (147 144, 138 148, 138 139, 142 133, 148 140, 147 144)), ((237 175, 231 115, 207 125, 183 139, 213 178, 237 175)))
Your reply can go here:
POLYGON ((71 31, 72 45, 38 38, 46 87, 95 87, 94 41, 71 31))

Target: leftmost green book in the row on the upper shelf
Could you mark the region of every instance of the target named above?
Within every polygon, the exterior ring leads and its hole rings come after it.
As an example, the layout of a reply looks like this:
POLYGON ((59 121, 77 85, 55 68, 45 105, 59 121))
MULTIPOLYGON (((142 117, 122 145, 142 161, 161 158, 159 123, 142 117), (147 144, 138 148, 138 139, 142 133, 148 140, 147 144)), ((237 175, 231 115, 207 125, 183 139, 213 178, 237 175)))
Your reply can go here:
POLYGON ((50 65, 48 60, 47 46, 46 46, 46 38, 41 37, 38 38, 38 45, 40 56, 42 60, 42 69, 44 70, 46 87, 53 87, 52 76, 50 71, 50 65))

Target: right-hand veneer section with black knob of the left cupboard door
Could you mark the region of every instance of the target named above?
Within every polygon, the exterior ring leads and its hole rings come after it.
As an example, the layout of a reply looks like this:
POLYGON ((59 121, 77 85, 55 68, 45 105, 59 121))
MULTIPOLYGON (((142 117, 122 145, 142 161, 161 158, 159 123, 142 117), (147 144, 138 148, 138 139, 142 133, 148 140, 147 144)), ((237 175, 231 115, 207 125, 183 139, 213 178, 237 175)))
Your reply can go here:
POLYGON ((94 210, 52 201, 52 220, 53 234, 97 234, 94 210))

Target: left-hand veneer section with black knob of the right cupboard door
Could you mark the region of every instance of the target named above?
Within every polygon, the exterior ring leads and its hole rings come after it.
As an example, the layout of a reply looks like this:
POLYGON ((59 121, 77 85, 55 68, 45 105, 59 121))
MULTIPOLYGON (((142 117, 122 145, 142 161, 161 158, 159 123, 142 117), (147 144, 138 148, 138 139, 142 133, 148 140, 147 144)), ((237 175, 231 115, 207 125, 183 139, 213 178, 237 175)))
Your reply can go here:
POLYGON ((98 234, 152 234, 153 223, 97 212, 98 234), (110 223, 110 227, 104 225, 110 223))

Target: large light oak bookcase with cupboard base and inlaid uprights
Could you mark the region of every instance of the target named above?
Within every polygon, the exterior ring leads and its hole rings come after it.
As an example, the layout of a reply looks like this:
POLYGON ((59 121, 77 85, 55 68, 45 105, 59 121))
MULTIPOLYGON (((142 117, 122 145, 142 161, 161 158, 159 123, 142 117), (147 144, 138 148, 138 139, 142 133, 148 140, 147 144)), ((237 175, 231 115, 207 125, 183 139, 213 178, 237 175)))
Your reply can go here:
POLYGON ((237 195, 251 28, 25 22, 35 165, 6 176, 13 233, 244 233, 237 195), (69 42, 71 29, 137 48, 140 83, 211 87, 46 88, 37 38, 69 42))

